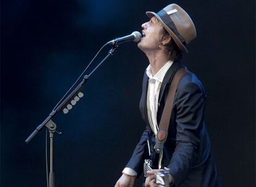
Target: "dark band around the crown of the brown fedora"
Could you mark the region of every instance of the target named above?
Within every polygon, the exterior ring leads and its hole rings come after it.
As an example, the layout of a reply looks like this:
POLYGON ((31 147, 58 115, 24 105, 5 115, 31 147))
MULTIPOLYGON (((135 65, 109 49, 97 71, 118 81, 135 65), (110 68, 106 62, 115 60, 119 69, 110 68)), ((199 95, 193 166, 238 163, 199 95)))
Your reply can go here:
POLYGON ((176 26, 173 23, 173 20, 169 17, 169 15, 162 9, 157 13, 160 18, 163 20, 163 22, 173 31, 173 33, 179 38, 179 41, 182 42, 184 46, 186 46, 186 41, 182 38, 181 34, 177 31, 176 26))

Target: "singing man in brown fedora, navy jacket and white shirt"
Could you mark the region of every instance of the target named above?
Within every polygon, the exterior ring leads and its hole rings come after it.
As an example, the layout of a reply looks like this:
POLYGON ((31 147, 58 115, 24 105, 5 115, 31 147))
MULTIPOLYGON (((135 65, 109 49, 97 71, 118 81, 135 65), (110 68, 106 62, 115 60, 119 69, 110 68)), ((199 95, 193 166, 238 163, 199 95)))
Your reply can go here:
POLYGON ((116 187, 133 186, 143 170, 145 159, 151 159, 156 169, 148 172, 145 186, 156 186, 154 173, 169 169, 170 186, 221 186, 204 121, 207 98, 202 83, 195 74, 186 73, 177 84, 174 95, 168 137, 163 152, 154 149, 161 115, 174 74, 184 66, 182 53, 196 37, 194 23, 177 4, 155 12, 146 12, 150 21, 142 24, 142 39, 138 44, 150 65, 143 78, 140 112, 147 123, 145 131, 116 187))

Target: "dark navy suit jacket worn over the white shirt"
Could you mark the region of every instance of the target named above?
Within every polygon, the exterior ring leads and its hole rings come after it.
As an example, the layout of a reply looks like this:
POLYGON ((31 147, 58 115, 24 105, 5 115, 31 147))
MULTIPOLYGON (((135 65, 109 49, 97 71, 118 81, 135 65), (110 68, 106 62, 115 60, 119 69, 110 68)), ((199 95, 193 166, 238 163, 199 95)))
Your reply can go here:
MULTIPOLYGON (((158 124, 163 113, 169 86, 174 74, 184 66, 174 62, 164 76, 158 99, 158 124)), ((155 135, 150 129, 147 113, 148 76, 145 73, 140 99, 140 113, 146 122, 146 129, 136 146, 126 167, 134 169, 138 176, 143 170, 145 159, 152 159, 157 165, 159 155, 155 153, 155 135), (148 153, 147 141, 150 142, 151 156, 148 153)), ((205 128, 204 109, 207 95, 202 83, 195 74, 182 76, 174 95, 173 111, 168 130, 168 138, 164 143, 163 167, 170 169, 174 178, 174 186, 222 186, 215 162, 211 154, 210 140, 205 128)))

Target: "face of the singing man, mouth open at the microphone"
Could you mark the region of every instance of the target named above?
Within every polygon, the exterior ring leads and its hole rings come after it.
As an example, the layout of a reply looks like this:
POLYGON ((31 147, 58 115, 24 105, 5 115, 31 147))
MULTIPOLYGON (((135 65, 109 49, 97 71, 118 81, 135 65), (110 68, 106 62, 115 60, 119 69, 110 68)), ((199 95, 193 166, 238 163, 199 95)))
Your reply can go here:
POLYGON ((161 44, 160 32, 163 26, 156 17, 152 17, 149 22, 142 24, 142 39, 138 43, 138 47, 147 52, 150 50, 157 50, 161 44))

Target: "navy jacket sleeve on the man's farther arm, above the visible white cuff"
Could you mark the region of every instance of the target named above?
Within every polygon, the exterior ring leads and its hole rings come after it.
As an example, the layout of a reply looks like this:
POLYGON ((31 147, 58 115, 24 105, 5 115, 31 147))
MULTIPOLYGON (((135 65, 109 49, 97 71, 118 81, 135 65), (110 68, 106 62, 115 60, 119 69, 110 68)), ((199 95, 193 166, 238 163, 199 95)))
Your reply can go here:
POLYGON ((126 165, 126 167, 134 169, 135 172, 137 172, 137 177, 139 177, 140 173, 142 173, 143 162, 148 154, 147 140, 148 140, 149 132, 150 132, 150 127, 148 127, 148 125, 147 125, 146 129, 142 133, 139 143, 137 144, 137 146, 134 149, 134 153, 132 154, 130 161, 126 165))

